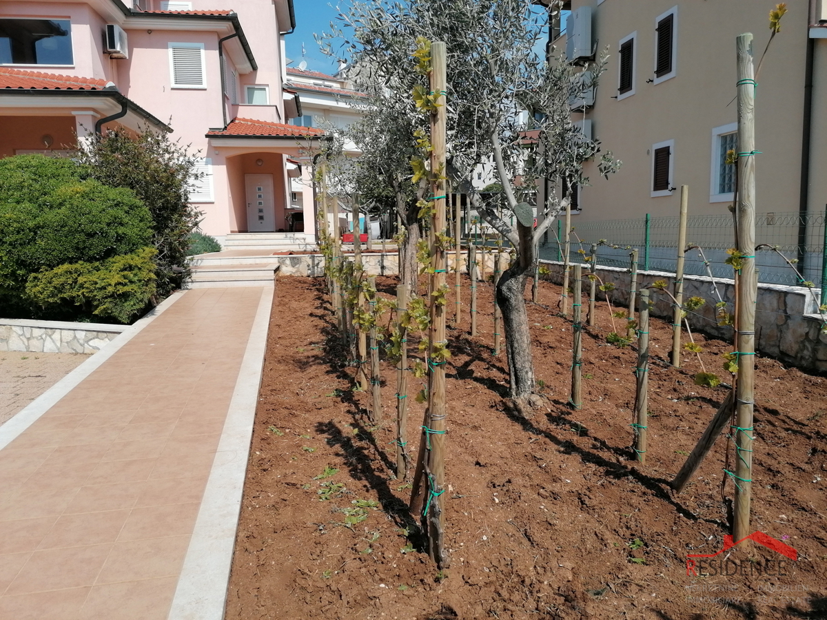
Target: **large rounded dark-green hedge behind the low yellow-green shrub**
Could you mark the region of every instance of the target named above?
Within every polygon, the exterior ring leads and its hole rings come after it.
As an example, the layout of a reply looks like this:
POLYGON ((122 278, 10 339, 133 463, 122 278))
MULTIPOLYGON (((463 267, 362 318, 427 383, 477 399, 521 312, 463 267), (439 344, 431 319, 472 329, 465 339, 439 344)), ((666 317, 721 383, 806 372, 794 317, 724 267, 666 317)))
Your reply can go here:
POLYGON ((140 312, 146 306, 146 286, 141 292, 131 287, 118 291, 109 282, 95 293, 92 305, 69 306, 67 298, 50 300, 41 291, 35 299, 27 289, 31 274, 107 261, 151 246, 151 214, 135 193, 84 179, 83 171, 72 160, 43 155, 0 160, 0 315, 70 318, 70 308, 85 308, 81 316, 91 312, 127 322, 125 308, 140 312), (118 299, 108 303, 105 294, 118 299), (133 294, 131 300, 120 298, 133 294))

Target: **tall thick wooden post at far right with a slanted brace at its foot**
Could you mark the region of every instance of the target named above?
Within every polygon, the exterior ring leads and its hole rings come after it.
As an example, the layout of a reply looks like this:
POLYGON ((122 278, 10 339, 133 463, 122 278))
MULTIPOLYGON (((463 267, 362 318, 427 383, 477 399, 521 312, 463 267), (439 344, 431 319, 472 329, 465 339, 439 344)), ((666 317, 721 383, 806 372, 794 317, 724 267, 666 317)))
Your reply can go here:
POLYGON ((738 36, 738 250, 741 278, 738 305, 738 380, 735 385, 735 503, 733 537, 752 532, 749 508, 753 483, 753 384, 755 371, 755 76, 753 35, 738 36))

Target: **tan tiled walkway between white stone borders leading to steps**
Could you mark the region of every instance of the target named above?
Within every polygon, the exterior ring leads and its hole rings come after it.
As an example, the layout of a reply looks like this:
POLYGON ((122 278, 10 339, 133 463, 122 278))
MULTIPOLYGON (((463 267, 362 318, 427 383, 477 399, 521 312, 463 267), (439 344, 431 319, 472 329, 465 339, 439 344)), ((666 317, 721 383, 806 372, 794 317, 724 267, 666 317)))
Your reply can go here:
POLYGON ((184 293, 0 450, 0 618, 168 617, 271 294, 184 293))

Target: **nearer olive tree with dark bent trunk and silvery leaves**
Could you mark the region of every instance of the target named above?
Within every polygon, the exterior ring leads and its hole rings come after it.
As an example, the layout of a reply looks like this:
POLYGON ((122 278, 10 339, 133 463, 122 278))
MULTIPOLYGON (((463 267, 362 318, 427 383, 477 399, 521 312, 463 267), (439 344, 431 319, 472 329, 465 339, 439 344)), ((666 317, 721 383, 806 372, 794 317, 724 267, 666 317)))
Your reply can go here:
MULTIPOLYGON (((600 174, 619 165, 600 153, 571 120, 571 103, 595 88, 605 53, 576 67, 562 55, 538 55, 547 12, 531 0, 408 0, 360 2, 340 9, 327 45, 371 71, 399 100, 421 104, 433 93, 410 71, 418 37, 447 44, 448 156, 480 216, 514 247, 514 261, 500 277, 496 301, 503 312, 510 395, 533 393, 535 380, 524 290, 538 260, 538 241, 566 202, 560 184, 587 184, 582 164, 598 158, 600 174), (473 189, 477 165, 493 162, 502 194, 494 202, 473 189), (539 225, 533 226, 536 189, 547 179, 539 225), (501 217, 507 209, 515 217, 501 217), (514 223, 510 223, 514 222, 514 223)), ((553 52, 553 50, 552 50, 553 52)))

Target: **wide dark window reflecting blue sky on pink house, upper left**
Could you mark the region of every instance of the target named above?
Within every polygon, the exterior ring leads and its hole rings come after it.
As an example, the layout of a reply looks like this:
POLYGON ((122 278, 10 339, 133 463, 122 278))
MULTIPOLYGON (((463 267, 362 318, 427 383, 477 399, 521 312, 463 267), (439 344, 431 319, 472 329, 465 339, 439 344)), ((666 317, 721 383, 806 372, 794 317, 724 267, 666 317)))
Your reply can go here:
POLYGON ((68 19, 0 19, 0 64, 74 64, 68 19))

